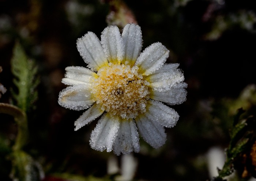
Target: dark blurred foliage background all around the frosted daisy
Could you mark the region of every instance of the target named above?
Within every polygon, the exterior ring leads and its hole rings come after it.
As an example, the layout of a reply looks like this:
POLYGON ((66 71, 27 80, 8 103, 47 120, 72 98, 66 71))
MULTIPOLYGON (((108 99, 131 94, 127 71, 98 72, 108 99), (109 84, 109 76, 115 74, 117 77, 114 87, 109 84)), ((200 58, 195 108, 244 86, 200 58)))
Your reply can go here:
POLYGON ((188 83, 187 101, 172 106, 180 120, 166 129, 166 144, 156 150, 140 139, 135 180, 211 179, 207 152, 215 146, 227 155, 216 180, 255 177, 255 17, 249 0, 1 0, 0 85, 7 89, 0 99, 1 179, 93 181, 123 174, 120 157, 110 174, 113 153, 89 146, 97 120, 74 132, 82 113, 62 108, 57 97, 65 67, 85 66, 76 39, 127 22, 140 25, 143 49, 165 45, 167 63, 179 63, 188 83), (237 113, 240 108, 245 112, 237 113), (224 177, 233 170, 235 178, 224 177))

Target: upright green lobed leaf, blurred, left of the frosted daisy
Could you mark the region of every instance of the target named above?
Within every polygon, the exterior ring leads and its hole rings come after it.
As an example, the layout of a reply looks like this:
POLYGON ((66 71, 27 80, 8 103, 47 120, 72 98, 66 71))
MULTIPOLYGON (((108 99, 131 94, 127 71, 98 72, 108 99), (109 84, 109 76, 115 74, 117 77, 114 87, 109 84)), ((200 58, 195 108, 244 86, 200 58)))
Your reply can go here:
POLYGON ((35 88, 39 84, 36 77, 37 66, 33 60, 29 60, 22 46, 16 42, 11 59, 11 71, 16 77, 13 82, 18 88, 18 93, 13 91, 13 97, 17 106, 24 112, 34 108, 33 103, 37 100, 35 88))

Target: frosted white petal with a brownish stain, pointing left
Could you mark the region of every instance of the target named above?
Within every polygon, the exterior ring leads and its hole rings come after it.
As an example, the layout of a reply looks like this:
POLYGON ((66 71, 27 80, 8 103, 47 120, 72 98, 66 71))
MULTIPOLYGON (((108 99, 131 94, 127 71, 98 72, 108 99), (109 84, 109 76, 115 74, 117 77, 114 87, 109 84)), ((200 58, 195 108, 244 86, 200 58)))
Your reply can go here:
POLYGON ((90 87, 78 84, 63 89, 59 94, 59 104, 73 110, 87 109, 94 103, 90 87))

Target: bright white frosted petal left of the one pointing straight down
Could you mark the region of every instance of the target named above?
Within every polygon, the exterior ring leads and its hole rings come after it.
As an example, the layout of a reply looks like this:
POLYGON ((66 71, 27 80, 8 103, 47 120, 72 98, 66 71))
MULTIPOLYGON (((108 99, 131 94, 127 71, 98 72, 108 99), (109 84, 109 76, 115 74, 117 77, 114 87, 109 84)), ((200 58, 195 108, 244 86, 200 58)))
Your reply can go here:
POLYGON ((113 118, 108 114, 105 114, 99 120, 93 132, 91 132, 91 148, 98 151, 107 150, 107 152, 110 152, 112 150, 118 128, 118 118, 113 118))

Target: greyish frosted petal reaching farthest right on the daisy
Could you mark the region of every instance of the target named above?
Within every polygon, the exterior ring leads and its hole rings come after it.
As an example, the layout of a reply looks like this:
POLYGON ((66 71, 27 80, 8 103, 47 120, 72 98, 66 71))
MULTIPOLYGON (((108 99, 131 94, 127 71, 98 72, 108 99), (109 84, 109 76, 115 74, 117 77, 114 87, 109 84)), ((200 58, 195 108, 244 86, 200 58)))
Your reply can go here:
POLYGON ((166 102, 170 105, 181 104, 186 101, 187 83, 174 84, 169 90, 151 90, 150 98, 155 101, 166 102))

